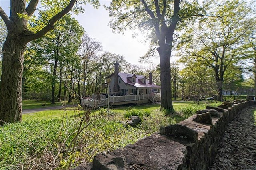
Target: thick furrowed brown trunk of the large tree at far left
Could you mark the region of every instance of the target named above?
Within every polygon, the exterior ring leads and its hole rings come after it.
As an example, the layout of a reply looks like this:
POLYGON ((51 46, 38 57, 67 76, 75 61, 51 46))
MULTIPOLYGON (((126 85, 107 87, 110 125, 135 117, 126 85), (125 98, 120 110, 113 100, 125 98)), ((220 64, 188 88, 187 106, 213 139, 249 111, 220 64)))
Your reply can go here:
POLYGON ((26 44, 7 36, 3 45, 2 75, 0 83, 0 125, 21 121, 23 53, 26 44))

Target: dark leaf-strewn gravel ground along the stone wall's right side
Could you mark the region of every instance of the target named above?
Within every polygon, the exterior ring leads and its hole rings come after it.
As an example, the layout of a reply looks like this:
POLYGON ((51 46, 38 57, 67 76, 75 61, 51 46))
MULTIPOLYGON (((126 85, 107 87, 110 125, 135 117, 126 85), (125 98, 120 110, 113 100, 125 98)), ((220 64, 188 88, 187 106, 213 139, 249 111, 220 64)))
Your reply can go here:
POLYGON ((234 117, 222 138, 210 170, 256 170, 256 107, 234 117))

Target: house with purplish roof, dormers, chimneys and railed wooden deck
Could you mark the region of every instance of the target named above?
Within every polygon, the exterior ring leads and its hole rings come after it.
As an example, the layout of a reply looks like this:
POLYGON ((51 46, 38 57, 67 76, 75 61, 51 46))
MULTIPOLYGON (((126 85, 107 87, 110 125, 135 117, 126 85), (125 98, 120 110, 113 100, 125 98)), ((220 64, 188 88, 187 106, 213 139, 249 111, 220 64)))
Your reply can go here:
POLYGON ((117 62, 114 66, 114 73, 107 77, 110 82, 104 84, 104 86, 108 87, 107 99, 105 95, 100 99, 96 99, 96 97, 82 99, 82 105, 96 107, 108 105, 108 103, 110 105, 124 105, 161 101, 161 87, 152 82, 152 73, 149 73, 147 78, 144 75, 120 73, 117 62))

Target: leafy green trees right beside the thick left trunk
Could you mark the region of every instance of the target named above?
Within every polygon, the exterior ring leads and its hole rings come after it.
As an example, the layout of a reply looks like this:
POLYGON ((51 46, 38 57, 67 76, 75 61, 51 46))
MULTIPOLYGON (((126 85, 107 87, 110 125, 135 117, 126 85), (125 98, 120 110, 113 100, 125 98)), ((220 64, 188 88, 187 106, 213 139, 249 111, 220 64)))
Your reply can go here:
MULTIPOLYGON (((24 53, 23 99, 49 100, 50 89, 55 89, 60 80, 68 85, 76 78, 75 70, 80 67, 76 53, 83 34, 84 28, 66 14, 56 22, 54 30, 30 43, 24 53), (61 71, 65 76, 58 74, 61 71)), ((62 90, 62 86, 54 92, 62 90)))

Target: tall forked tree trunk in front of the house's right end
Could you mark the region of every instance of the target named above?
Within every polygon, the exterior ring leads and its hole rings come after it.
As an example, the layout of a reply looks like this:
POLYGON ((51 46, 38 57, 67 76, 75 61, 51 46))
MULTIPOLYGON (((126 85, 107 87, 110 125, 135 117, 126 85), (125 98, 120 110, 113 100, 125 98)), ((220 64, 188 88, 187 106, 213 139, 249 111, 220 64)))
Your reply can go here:
POLYGON ((178 23, 180 0, 174 0, 173 16, 169 26, 166 25, 165 12, 166 6, 162 14, 160 13, 158 1, 154 1, 156 16, 154 12, 148 8, 145 1, 140 1, 144 5, 144 10, 148 13, 152 20, 154 20, 154 30, 158 38, 159 47, 157 51, 160 57, 160 81, 161 81, 161 109, 165 109, 168 113, 173 113, 172 106, 172 89, 171 89, 171 71, 170 71, 170 58, 172 51, 173 34, 178 23))

